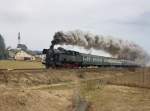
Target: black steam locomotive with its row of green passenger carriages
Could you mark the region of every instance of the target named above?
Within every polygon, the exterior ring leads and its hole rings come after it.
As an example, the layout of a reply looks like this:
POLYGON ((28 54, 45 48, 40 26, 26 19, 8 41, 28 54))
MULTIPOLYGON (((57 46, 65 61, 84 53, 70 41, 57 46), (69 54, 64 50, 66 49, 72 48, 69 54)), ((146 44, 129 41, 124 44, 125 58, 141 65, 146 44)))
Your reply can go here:
POLYGON ((45 59, 43 64, 49 67, 140 67, 134 61, 122 60, 111 57, 103 57, 91 54, 79 53, 72 50, 65 50, 61 47, 54 49, 43 49, 45 59))

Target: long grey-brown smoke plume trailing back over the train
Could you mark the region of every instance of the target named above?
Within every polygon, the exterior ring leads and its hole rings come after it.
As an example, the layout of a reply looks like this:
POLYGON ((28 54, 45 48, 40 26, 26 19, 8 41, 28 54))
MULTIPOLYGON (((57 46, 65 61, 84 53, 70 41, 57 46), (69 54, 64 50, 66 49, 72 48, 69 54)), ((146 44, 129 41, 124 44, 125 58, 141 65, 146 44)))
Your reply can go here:
POLYGON ((89 32, 82 32, 80 30, 56 32, 52 40, 51 48, 57 44, 76 45, 84 47, 85 49, 93 48, 96 50, 103 50, 114 57, 137 61, 141 64, 146 64, 149 60, 148 54, 139 45, 133 42, 108 36, 93 35, 89 32))

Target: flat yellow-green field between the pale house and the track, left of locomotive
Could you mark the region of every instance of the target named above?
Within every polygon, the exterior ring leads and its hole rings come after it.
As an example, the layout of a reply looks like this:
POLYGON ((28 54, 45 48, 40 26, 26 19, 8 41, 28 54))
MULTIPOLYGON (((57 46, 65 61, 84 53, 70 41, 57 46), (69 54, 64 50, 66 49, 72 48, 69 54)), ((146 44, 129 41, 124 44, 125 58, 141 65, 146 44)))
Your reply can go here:
POLYGON ((0 69, 32 69, 44 68, 41 62, 0 60, 0 69))

